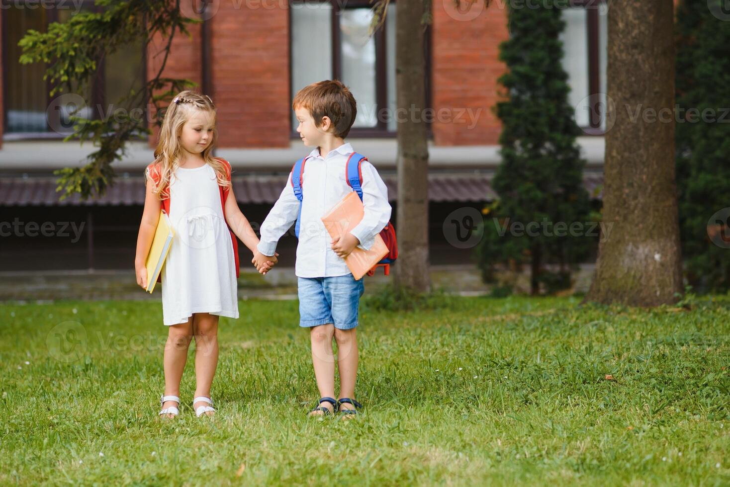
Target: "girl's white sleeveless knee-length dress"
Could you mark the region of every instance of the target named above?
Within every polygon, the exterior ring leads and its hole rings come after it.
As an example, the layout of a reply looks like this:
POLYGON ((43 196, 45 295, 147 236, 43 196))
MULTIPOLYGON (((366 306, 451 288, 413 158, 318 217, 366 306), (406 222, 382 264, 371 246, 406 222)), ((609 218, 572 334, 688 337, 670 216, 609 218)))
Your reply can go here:
POLYGON ((210 165, 175 171, 169 217, 174 238, 161 270, 163 323, 188 322, 192 313, 238 318, 231 233, 210 165))

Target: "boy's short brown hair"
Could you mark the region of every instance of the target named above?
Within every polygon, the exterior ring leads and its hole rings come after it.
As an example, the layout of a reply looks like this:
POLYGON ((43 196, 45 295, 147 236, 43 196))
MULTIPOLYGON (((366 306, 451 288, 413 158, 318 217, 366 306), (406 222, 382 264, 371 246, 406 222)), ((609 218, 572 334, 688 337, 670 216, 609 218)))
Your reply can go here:
POLYGON ((296 93, 291 108, 304 108, 315 119, 315 126, 322 125, 322 117, 329 117, 334 135, 345 139, 355 123, 357 102, 350 89, 337 79, 326 79, 305 86, 296 93))

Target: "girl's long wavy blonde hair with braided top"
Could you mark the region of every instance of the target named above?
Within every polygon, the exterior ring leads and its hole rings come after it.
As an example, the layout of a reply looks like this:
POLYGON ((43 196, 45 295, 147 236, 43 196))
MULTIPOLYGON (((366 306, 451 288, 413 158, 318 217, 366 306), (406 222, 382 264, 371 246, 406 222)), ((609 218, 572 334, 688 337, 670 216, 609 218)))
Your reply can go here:
MULTIPOLYGON (((155 148, 155 160, 149 166, 150 169, 154 168, 159 176, 154 192, 161 200, 169 198, 170 179, 172 174, 180 167, 180 158, 183 152, 178 137, 183 131, 183 125, 190 120, 190 116, 195 110, 206 110, 211 112, 213 116, 213 136, 210 144, 203 149, 201 156, 215 170, 218 184, 226 188, 231 186, 231 182, 228 181, 226 164, 211 155, 213 147, 215 147, 215 141, 218 139, 218 128, 215 126, 217 117, 215 104, 213 104, 210 96, 185 90, 173 98, 172 103, 167 107, 157 147, 155 148)), ((145 184, 147 184, 147 177, 149 177, 149 171, 145 171, 145 184)))

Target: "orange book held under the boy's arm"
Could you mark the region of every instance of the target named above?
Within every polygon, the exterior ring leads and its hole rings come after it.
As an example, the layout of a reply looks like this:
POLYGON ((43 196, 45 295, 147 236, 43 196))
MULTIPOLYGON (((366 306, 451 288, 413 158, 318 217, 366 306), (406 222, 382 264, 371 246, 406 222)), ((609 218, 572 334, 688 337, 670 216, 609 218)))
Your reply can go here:
MULTIPOLYGON (((324 217, 322 222, 332 238, 342 237, 350 232, 360 223, 365 214, 363 203, 356 192, 342 198, 324 217)), ((375 243, 370 250, 355 247, 353 253, 345 257, 347 268, 353 273, 356 279, 361 278, 365 273, 374 268, 377 262, 388 255, 388 247, 385 246, 380 234, 375 235, 375 243)))

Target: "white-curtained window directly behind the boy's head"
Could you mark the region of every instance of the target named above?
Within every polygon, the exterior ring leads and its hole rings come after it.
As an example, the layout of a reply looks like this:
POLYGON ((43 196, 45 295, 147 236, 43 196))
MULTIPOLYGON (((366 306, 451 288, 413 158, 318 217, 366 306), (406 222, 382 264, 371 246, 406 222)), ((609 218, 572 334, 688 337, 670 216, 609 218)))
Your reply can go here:
MULTIPOLYGON (((393 136, 396 131, 396 7, 385 25, 368 36, 372 4, 367 0, 293 1, 291 94, 322 79, 340 79, 358 101, 350 133, 393 136), (384 113, 387 108, 387 113, 384 113)), ((429 35, 426 35, 428 44, 429 35)), ((426 69, 429 69, 426 56, 426 69)), ((428 76, 426 77, 428 83, 428 76)), ((428 87, 426 93, 429 93, 428 87)), ((294 115, 292 126, 296 128, 294 115)))

